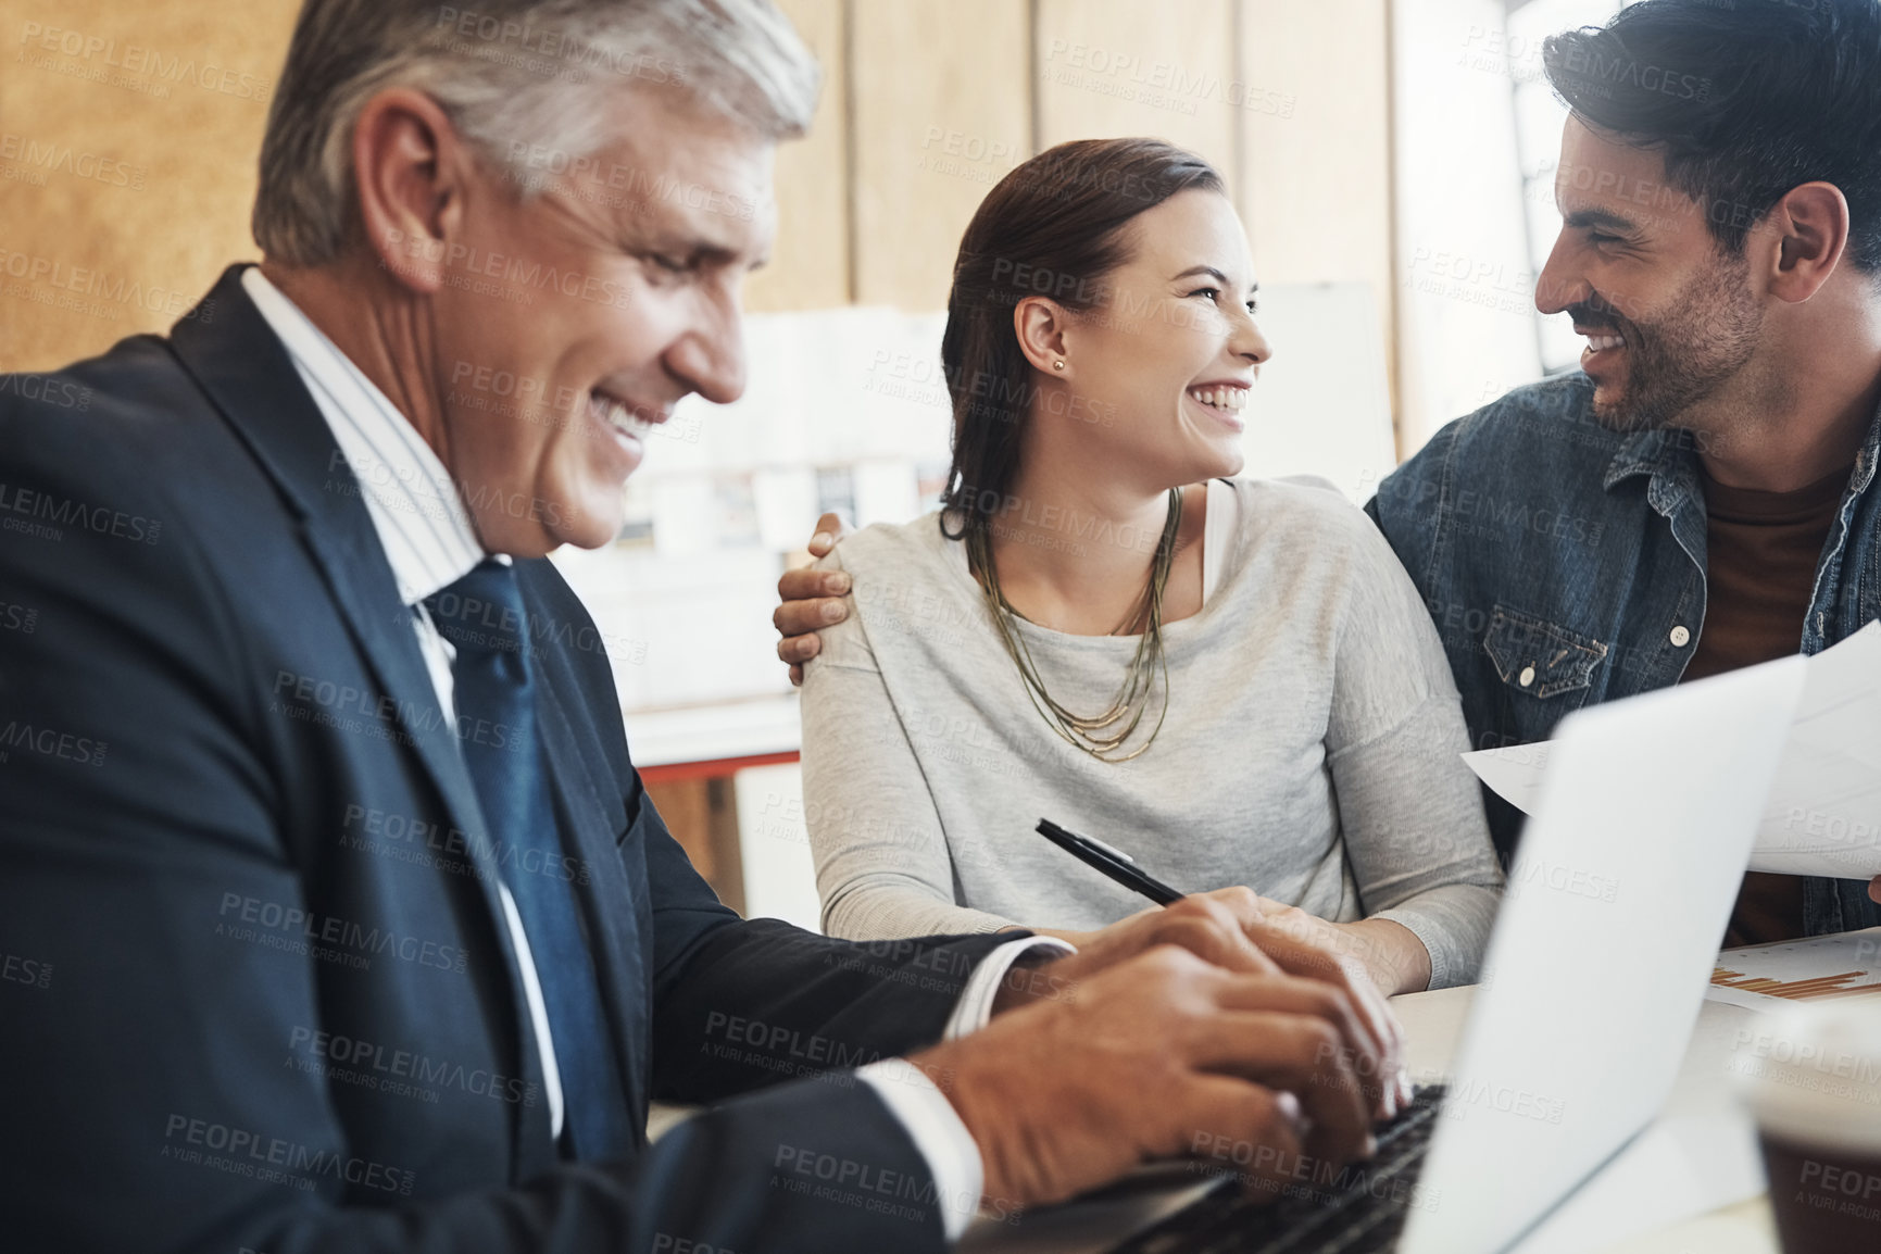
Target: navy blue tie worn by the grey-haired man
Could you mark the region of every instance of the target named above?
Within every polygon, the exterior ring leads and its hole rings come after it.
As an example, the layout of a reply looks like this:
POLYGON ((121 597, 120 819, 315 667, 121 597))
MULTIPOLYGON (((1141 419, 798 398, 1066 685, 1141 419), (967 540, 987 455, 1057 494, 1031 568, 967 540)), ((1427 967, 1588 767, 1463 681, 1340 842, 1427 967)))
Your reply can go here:
POLYGON ((562 850, 549 803, 523 588, 512 566, 483 558, 425 609, 457 649, 457 745, 536 959, 574 1154, 617 1158, 632 1147, 626 1098, 574 895, 579 863, 562 850))

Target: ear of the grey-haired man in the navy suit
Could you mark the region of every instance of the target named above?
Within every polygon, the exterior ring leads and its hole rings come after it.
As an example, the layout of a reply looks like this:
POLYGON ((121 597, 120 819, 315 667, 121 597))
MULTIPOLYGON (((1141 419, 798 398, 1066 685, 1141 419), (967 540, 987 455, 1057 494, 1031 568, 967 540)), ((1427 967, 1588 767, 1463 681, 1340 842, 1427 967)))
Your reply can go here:
POLYGON ((367 248, 397 282, 435 293, 461 226, 470 165, 450 117, 423 92, 386 88, 359 109, 352 165, 367 248))

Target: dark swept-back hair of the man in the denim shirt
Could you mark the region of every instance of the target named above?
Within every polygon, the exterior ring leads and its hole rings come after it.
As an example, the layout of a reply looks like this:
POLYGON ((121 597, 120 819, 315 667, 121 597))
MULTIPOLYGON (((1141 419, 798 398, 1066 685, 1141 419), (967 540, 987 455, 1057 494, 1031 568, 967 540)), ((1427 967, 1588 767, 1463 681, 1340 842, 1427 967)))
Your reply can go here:
POLYGON ((1881 2, 1644 0, 1548 38, 1542 64, 1584 122, 1665 154, 1727 252, 1823 180, 1849 201, 1849 261, 1881 271, 1881 2))

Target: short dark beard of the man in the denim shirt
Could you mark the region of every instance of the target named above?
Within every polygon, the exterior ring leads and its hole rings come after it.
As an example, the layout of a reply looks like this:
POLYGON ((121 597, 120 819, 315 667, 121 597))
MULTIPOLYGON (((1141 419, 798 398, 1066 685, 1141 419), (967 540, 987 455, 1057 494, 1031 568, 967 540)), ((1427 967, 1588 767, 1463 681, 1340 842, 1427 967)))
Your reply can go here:
POLYGON ((1595 402, 1593 417, 1608 431, 1687 427, 1691 410, 1717 393, 1757 350, 1762 306, 1746 290, 1749 261, 1723 258, 1699 271, 1661 308, 1635 321, 1595 295, 1569 308, 1574 325, 1618 335, 1625 342, 1623 391, 1595 402))

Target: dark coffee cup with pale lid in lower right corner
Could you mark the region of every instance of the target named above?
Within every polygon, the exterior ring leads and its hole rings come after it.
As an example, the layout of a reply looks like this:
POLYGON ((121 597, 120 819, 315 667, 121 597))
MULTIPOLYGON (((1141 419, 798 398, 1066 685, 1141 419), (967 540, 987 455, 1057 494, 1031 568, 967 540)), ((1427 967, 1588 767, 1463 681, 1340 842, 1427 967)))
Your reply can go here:
POLYGON ((1783 1254, 1881 1250, 1881 1000, 1804 1004, 1740 1043, 1783 1254))

